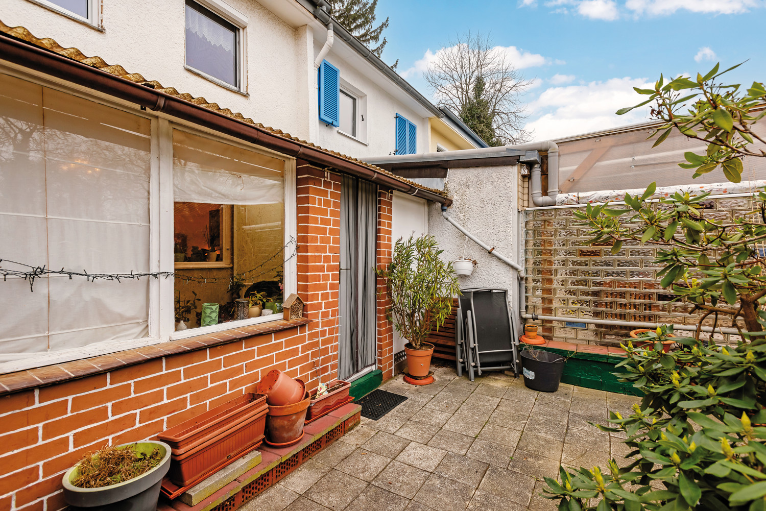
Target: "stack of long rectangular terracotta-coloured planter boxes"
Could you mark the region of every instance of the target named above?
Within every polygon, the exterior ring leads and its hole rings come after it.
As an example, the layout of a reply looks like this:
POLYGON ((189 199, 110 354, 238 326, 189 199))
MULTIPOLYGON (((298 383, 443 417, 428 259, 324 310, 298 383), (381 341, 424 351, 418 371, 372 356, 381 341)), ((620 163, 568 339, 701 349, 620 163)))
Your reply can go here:
POLYGON ((245 394, 157 435, 171 447, 170 480, 188 486, 258 447, 267 408, 265 395, 245 394))

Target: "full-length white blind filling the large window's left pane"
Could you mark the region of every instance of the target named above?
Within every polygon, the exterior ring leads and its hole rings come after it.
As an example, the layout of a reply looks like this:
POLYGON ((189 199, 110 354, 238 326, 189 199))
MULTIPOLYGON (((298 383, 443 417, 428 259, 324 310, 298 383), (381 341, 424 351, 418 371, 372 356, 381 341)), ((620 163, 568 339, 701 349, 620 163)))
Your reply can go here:
MULTIPOLYGON (((2 266, 149 271, 149 153, 149 120, 0 74, 2 266)), ((8 277, 0 311, 0 361, 140 339, 149 279, 8 277)))

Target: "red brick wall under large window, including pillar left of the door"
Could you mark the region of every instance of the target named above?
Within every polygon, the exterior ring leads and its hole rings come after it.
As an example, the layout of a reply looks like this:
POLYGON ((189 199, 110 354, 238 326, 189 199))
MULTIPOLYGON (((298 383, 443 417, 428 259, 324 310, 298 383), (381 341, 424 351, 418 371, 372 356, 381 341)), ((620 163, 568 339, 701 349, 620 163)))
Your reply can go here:
POLYGON ((0 509, 61 509, 61 477, 84 453, 154 437, 254 391, 270 369, 309 388, 315 361, 323 380, 337 374, 340 177, 299 163, 297 185, 297 291, 311 323, 220 346, 188 339, 199 349, 0 396, 0 509))

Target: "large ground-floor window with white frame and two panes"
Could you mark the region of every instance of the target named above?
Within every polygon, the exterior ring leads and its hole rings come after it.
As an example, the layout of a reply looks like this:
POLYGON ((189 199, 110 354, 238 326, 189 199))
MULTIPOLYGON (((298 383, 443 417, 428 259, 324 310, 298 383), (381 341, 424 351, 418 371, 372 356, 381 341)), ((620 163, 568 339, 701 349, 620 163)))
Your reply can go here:
POLYGON ((0 373, 281 317, 293 159, 3 73, 0 111, 0 373))

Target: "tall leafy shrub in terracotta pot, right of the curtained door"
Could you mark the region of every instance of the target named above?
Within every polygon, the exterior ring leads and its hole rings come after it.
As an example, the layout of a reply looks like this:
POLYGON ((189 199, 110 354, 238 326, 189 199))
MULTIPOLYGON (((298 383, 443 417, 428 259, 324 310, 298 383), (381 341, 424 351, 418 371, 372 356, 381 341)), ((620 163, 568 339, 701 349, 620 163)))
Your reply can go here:
POLYGON ((408 343, 404 345, 408 373, 428 375, 434 345, 426 342, 431 329, 439 329, 452 310, 453 296, 460 294, 452 263, 441 259, 436 238, 400 238, 385 268, 375 270, 385 280, 388 319, 408 343))

